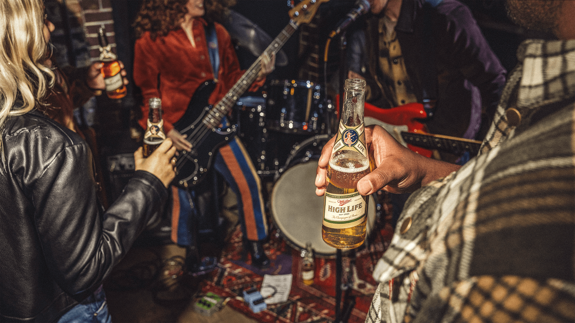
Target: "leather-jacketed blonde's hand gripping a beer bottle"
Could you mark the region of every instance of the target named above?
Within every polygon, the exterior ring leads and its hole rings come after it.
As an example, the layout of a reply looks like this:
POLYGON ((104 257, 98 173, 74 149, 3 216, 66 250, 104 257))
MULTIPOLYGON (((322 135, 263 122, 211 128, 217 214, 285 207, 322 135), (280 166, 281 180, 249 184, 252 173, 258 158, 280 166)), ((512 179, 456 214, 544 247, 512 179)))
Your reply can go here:
POLYGON ((168 187, 176 176, 174 171, 176 148, 172 145, 172 140, 169 138, 164 140, 150 157, 144 158, 143 151, 140 147, 134 152, 136 171, 151 172, 168 187))

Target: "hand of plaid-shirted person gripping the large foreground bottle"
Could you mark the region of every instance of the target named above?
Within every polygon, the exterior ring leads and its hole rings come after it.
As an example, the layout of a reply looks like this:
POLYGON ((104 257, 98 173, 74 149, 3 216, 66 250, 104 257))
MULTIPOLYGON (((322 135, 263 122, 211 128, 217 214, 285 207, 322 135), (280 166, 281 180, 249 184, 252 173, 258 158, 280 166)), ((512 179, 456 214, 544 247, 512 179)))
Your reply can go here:
MULTIPOLYGON (((365 127, 367 150, 375 160, 375 170, 358 182, 359 194, 369 195, 383 189, 390 193, 407 193, 457 171, 460 166, 421 156, 397 142, 378 125, 365 127)), ((335 138, 325 144, 317 163, 316 194, 325 192, 327 167, 335 138)))

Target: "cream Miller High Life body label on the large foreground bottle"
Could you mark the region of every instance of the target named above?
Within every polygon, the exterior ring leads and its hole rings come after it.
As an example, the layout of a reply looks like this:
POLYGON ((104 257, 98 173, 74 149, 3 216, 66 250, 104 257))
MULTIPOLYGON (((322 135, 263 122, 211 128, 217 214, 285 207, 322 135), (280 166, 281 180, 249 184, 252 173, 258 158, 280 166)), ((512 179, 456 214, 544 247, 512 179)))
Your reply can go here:
POLYGON ((325 193, 323 225, 333 229, 351 228, 365 221, 367 197, 359 192, 325 193))

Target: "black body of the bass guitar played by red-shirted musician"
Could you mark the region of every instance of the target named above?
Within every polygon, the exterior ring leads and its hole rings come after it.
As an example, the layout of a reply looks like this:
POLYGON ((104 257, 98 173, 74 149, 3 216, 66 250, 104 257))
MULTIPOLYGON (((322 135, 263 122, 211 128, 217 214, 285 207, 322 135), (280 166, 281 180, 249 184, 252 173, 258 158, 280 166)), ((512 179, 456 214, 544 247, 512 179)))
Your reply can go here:
POLYGON ((213 164, 217 149, 227 144, 236 134, 236 127, 210 128, 204 123, 206 113, 212 106, 208 104, 216 87, 213 81, 204 82, 194 93, 186 113, 174 123, 179 133, 187 135, 192 143, 190 152, 181 151, 177 156, 176 176, 173 184, 178 187, 191 187, 200 183, 213 164), (197 138, 197 142, 196 139, 197 138))

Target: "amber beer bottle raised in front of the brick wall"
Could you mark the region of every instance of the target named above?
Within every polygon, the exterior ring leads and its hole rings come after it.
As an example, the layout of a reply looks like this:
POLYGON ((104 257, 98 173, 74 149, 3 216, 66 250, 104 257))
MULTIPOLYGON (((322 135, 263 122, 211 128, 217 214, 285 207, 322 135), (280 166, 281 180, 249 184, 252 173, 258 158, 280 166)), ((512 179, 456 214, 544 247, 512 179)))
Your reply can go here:
POLYGON ((104 82, 106 83, 106 94, 108 94, 108 97, 111 99, 121 99, 126 96, 127 89, 120 73, 120 62, 116 54, 112 52, 112 45, 108 44, 104 25, 98 29, 98 41, 100 43, 99 60, 104 63, 101 71, 102 75, 104 75, 104 82))

